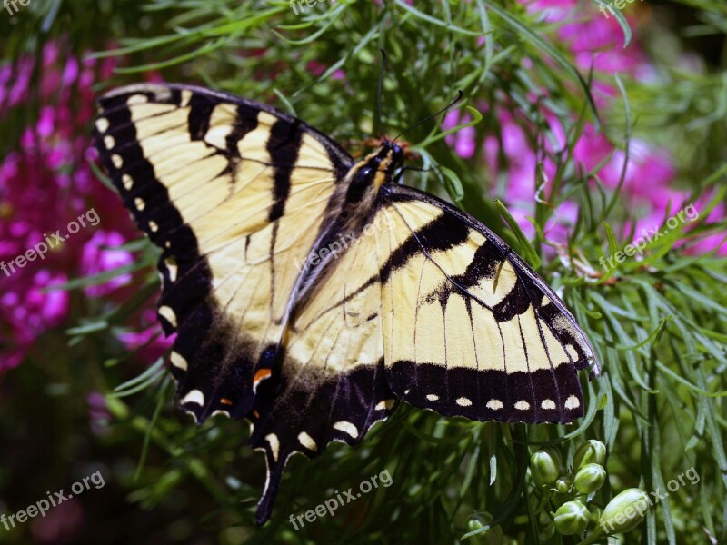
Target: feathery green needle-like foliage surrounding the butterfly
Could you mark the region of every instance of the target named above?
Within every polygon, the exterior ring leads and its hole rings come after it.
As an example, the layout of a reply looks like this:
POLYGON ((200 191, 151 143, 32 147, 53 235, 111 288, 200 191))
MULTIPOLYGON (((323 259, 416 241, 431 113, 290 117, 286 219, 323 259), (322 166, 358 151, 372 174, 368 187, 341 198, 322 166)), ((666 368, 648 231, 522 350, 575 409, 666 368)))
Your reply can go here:
MULTIPOLYGON (((608 451, 609 479, 593 491, 589 506, 603 509, 632 487, 666 490, 666 483, 689 467, 701 477, 698 485, 682 487, 647 510, 645 523, 626 534, 627 542, 702 543, 707 532, 727 540, 727 262, 682 253, 676 245, 681 233, 674 233, 651 243, 642 261, 626 260, 591 274, 599 269, 600 257, 632 240, 621 233, 634 214, 618 191, 594 180, 597 168, 583 172, 573 162, 583 125, 600 124, 623 149, 632 135, 665 144, 679 162, 682 187, 693 190, 691 202, 714 188, 710 202, 723 202, 724 66, 686 76, 657 63, 667 79, 624 81, 622 99, 598 111, 592 80, 603 76, 580 73, 553 39, 554 25, 528 15, 522 5, 510 0, 415 4, 340 0, 306 8, 301 15, 282 1, 58 2, 55 14, 32 4, 24 27, 5 41, 5 51, 37 51, 49 36, 68 35, 79 50, 95 51, 92 56, 124 58, 99 92, 158 70, 169 81, 200 82, 274 104, 350 149, 372 135, 376 124, 379 49, 389 62, 383 80, 386 134, 398 134, 433 114, 460 89, 465 104, 482 114, 473 116, 478 149, 486 137, 503 141, 497 111, 517 113, 541 166, 547 158, 557 167, 553 179, 539 180, 534 240, 528 241, 505 206, 493 200, 508 183, 506 158, 498 158, 499 173, 489 179, 482 156, 463 160, 434 123, 413 129, 406 138, 423 167, 438 170, 409 173, 407 183, 449 196, 540 265, 543 276, 563 292, 603 365, 600 378, 583 377, 585 417, 573 426, 506 425, 402 407, 357 448, 333 444, 314 461, 294 457, 273 520, 256 529, 254 500, 265 468, 262 456, 246 444, 247 425, 215 419, 195 428, 174 409, 171 379, 158 365, 148 362, 150 371, 133 381, 139 373, 124 371, 125 356, 109 356, 102 344, 156 290, 155 254, 142 243, 140 264, 130 269, 144 271, 138 298, 120 308, 90 309, 68 332, 72 343, 85 345, 95 385, 109 392, 116 388, 109 393, 115 420, 105 441, 109 447, 121 445, 138 461, 133 471, 121 473, 126 499, 144 510, 184 517, 184 529, 177 529, 180 540, 205 531, 223 543, 444 543, 490 525, 505 536, 497 542, 577 543, 583 536, 555 533, 549 513, 563 501, 555 500, 558 492, 543 496, 537 490, 529 473, 530 452, 558 445, 569 454, 564 458, 573 459, 583 441, 600 440, 608 451), (47 32, 34 36, 48 17, 55 18, 47 32), (314 75, 310 63, 320 64, 320 74, 314 75), (345 78, 335 76, 339 69, 345 78), (562 153, 544 145, 555 136, 543 106, 565 128, 562 153), (568 243, 553 248, 544 227, 565 198, 580 203, 580 213, 568 243), (384 470, 393 477, 391 486, 300 530, 289 522, 289 515, 313 510, 336 490, 358 487, 384 470)), ((722 2, 672 4, 698 16, 703 32, 727 33, 722 2)), ((630 36, 626 25, 624 43, 630 36)), ((690 239, 725 232, 724 218, 707 223, 706 216, 703 207, 690 239)), ((93 282, 76 280, 67 288, 93 282)), ((473 535, 463 542, 477 539, 473 535)))

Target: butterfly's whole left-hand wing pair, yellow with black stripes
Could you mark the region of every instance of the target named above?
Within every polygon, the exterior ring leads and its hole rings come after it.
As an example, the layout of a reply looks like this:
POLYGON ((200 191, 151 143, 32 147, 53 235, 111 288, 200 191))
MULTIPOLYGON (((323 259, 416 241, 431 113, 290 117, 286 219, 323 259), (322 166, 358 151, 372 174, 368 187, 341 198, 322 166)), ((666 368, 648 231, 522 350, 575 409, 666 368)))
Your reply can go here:
POLYGON ((244 418, 271 376, 294 263, 352 159, 300 120, 231 94, 141 84, 99 105, 105 168, 163 250, 158 313, 177 333, 178 400, 196 421, 244 418))

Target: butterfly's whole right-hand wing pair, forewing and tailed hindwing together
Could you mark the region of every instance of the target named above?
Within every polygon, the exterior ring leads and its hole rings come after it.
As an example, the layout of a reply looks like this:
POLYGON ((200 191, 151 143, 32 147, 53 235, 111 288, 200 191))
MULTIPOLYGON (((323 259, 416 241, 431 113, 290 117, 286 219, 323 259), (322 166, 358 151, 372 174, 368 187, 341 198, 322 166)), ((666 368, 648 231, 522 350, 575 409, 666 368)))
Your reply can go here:
POLYGON ((255 401, 252 442, 268 464, 258 520, 291 455, 361 441, 399 400, 479 421, 583 415, 577 370, 593 359, 583 332, 482 223, 384 185, 365 228, 338 242, 294 312, 282 379, 255 401))

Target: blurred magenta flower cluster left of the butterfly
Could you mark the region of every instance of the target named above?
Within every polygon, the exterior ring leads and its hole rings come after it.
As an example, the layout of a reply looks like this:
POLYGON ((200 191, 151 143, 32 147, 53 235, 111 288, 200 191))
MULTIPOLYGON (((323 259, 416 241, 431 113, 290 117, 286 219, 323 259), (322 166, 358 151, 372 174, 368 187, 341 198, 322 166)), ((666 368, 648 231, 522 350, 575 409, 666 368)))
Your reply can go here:
MULTIPOLYGON (((0 67, 0 114, 25 106, 34 64, 25 56, 0 67)), ((109 76, 112 62, 82 63, 52 42, 41 64, 36 84, 44 105, 38 120, 25 129, 19 151, 0 163, 0 375, 67 319, 69 294, 55 286, 81 272, 128 263, 128 255, 102 252, 99 237, 118 245, 133 233, 123 206, 95 181, 86 162, 92 84, 109 76), (96 223, 85 221, 92 210, 96 223), (72 223, 81 218, 85 226, 73 233, 72 223), (95 234, 99 223, 115 234, 95 234)), ((99 286, 94 294, 102 292, 99 286)))

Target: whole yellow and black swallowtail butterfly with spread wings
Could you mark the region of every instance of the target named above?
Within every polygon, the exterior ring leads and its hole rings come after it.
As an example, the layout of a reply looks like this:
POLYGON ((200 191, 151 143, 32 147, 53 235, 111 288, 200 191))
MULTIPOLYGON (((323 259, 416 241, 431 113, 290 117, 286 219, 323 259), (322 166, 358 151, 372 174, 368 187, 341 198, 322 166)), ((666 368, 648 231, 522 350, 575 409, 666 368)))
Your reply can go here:
POLYGON ((395 183, 392 140, 355 162, 271 106, 201 87, 102 96, 95 146, 162 250, 158 317, 177 401, 251 422, 272 512, 296 452, 355 444, 400 401, 475 421, 571 422, 598 363, 501 239, 395 183))

